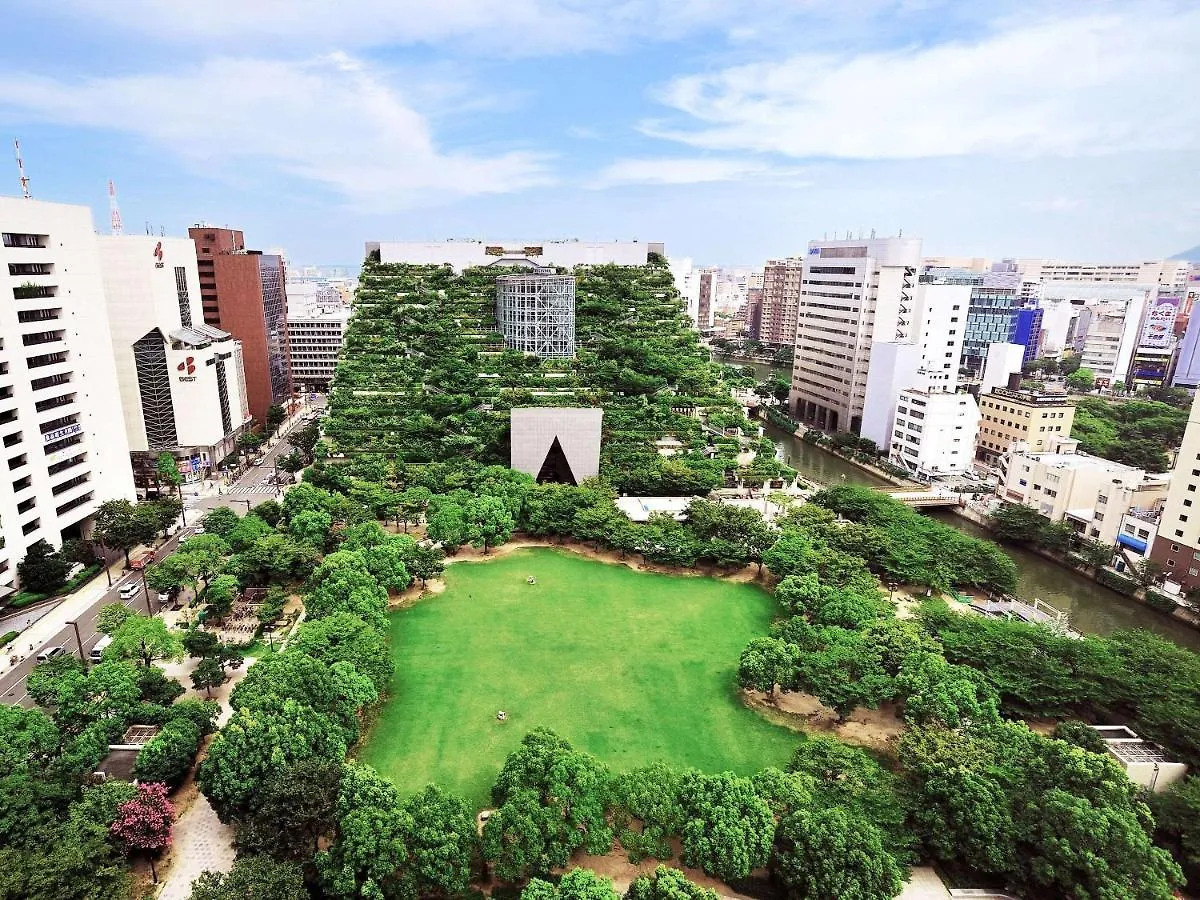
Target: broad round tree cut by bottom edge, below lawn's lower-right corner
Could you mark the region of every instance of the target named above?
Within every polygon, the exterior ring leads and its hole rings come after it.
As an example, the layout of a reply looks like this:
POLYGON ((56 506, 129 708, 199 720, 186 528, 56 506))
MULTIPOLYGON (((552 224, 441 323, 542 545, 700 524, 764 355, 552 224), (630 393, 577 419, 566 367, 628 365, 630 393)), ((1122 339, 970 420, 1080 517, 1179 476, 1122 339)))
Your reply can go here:
POLYGON ((892 900, 904 887, 880 830, 838 808, 798 810, 784 818, 773 869, 792 900, 892 900))

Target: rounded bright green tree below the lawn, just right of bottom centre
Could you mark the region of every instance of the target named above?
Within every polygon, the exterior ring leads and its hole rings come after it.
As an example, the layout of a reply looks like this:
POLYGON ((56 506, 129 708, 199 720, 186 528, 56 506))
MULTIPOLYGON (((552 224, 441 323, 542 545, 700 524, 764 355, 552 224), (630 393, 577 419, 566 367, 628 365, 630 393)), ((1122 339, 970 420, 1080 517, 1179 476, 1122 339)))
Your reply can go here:
POLYGON ((679 793, 686 815, 685 865, 733 882, 766 864, 775 820, 750 779, 689 772, 679 793))

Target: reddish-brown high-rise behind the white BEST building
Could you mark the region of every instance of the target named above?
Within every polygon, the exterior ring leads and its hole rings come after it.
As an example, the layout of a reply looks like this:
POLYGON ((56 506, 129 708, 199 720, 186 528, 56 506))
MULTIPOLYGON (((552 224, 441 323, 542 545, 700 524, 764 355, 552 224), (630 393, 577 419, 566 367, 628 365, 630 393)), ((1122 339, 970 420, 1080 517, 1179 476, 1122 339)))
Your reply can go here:
POLYGON ((283 258, 246 250, 241 232, 212 226, 187 229, 196 241, 204 322, 241 342, 250 413, 266 420, 292 400, 283 258))

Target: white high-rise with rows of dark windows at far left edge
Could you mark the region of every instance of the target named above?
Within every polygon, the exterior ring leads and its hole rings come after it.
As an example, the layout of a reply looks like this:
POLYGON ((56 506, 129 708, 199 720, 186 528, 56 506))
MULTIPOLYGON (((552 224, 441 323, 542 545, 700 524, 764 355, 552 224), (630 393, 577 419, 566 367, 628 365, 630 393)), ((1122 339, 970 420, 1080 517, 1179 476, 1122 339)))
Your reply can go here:
POLYGON ((91 210, 0 197, 0 587, 133 499, 91 210))

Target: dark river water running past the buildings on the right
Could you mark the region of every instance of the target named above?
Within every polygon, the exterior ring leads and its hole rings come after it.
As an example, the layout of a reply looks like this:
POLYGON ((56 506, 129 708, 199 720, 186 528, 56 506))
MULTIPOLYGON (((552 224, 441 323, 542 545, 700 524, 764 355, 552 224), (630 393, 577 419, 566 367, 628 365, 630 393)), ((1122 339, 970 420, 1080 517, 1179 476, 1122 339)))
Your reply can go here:
MULTIPOLYGON (((767 378, 773 371, 772 366, 762 362, 731 360, 730 365, 754 366, 761 379, 767 378)), ((779 444, 784 462, 802 475, 808 475, 823 485, 845 482, 865 487, 883 487, 889 484, 828 450, 806 444, 781 428, 766 422, 763 426, 767 436, 779 444)), ((953 512, 937 510, 930 515, 973 538, 989 538, 988 529, 953 512)), ((1087 635, 1106 635, 1123 628, 1144 628, 1177 644, 1200 650, 1200 631, 1190 625, 1184 625, 1129 600, 1037 553, 1013 545, 1004 545, 1004 552, 1016 563, 1019 572, 1016 593, 1030 600, 1033 598, 1045 600, 1056 610, 1063 610, 1072 628, 1076 631, 1087 635)))

